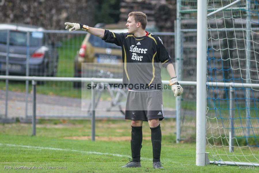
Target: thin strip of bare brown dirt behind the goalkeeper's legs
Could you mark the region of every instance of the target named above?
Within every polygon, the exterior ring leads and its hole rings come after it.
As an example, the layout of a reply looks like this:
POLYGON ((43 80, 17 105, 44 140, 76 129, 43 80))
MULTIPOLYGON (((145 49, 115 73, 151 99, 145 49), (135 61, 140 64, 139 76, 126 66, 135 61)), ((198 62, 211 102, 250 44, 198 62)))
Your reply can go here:
MULTIPOLYGON (((64 137, 64 139, 75 139, 75 140, 91 140, 91 136, 73 136, 73 137, 64 137)), ((120 137, 103 137, 96 136, 95 140, 99 141, 130 141, 130 136, 120 136, 120 137)), ((143 137, 143 140, 151 140, 151 137, 143 137)))

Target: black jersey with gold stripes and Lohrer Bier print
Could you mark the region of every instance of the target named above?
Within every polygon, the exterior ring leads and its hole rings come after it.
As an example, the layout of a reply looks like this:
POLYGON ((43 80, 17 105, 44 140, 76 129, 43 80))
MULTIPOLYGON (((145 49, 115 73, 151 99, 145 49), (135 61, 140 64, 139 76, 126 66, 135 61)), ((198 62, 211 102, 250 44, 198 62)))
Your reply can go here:
POLYGON ((146 32, 145 36, 136 37, 105 30, 102 40, 122 48, 123 84, 162 84, 160 64, 166 67, 172 60, 158 36, 146 32))

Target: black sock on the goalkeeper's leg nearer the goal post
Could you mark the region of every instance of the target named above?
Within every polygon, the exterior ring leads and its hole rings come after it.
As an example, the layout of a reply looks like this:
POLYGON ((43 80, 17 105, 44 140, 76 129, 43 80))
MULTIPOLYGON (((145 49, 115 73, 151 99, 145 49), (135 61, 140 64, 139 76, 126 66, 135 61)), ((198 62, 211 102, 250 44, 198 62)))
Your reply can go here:
POLYGON ((160 124, 157 127, 150 127, 151 142, 153 147, 153 162, 160 162, 162 134, 160 124))

